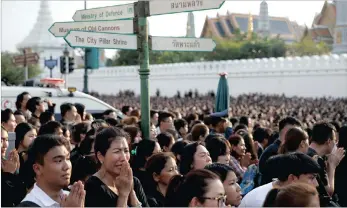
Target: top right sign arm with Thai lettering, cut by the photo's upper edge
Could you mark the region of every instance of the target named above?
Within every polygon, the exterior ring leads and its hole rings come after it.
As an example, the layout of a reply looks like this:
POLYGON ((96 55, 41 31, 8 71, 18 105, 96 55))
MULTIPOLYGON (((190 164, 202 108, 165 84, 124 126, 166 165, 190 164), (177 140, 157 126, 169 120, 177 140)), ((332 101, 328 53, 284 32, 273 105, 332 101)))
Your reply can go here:
POLYGON ((155 0, 149 2, 150 15, 219 9, 225 0, 155 0))

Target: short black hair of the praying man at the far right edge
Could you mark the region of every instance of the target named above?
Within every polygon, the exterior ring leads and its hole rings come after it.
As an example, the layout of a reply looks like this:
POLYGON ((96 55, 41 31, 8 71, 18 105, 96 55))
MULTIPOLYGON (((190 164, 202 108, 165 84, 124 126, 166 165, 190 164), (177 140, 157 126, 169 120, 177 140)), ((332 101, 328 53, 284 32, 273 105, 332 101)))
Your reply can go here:
POLYGON ((318 122, 313 126, 311 142, 317 144, 324 144, 333 137, 333 131, 336 131, 335 127, 329 122, 318 122))

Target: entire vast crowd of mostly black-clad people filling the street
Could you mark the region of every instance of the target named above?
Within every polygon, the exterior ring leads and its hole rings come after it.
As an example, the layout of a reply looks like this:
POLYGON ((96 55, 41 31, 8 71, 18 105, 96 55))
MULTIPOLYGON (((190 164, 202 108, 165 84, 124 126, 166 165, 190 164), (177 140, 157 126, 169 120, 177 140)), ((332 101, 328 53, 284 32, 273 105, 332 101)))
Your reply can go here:
POLYGON ((138 97, 94 96, 124 118, 67 102, 56 121, 28 92, 2 110, 1 206, 347 206, 346 99, 251 94, 213 112, 213 94, 157 96, 145 139, 138 97))

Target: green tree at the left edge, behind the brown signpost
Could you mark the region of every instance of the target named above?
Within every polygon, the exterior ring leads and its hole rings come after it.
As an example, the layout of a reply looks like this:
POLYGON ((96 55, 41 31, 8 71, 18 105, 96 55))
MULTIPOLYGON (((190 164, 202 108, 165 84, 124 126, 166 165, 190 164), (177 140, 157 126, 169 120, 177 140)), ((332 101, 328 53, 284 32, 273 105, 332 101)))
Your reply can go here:
MULTIPOLYGON (((22 84, 24 82, 24 67, 16 66, 13 63, 13 57, 18 54, 10 52, 1 53, 1 77, 6 78, 10 83, 14 85, 22 84)), ((39 65, 29 65, 28 78, 34 78, 42 71, 39 65)))

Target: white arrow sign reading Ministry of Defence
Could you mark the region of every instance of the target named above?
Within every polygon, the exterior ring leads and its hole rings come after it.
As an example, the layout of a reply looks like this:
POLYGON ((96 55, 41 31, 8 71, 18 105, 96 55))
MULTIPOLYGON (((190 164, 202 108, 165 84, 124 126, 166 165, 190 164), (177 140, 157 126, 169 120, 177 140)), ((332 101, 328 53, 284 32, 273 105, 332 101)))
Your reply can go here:
POLYGON ((134 4, 77 10, 72 17, 74 21, 117 20, 134 18, 134 4))

